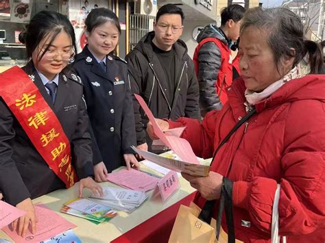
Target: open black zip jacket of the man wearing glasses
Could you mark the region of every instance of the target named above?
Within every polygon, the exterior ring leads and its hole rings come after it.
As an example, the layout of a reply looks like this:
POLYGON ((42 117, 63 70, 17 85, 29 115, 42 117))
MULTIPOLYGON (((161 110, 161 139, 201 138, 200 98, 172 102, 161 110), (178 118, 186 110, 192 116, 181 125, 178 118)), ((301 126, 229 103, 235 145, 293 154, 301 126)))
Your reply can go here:
MULTIPOLYGON (((152 47, 154 35, 154 31, 149 32, 126 56, 132 92, 143 97, 156 118, 176 120, 186 116, 200 119, 199 88, 186 44, 180 39, 173 44, 175 51, 175 75, 173 75, 175 92, 173 92, 168 88, 167 73, 154 53, 152 47)), ((135 98, 134 116, 137 144, 150 143, 149 139, 146 139, 145 131, 148 119, 135 98)))

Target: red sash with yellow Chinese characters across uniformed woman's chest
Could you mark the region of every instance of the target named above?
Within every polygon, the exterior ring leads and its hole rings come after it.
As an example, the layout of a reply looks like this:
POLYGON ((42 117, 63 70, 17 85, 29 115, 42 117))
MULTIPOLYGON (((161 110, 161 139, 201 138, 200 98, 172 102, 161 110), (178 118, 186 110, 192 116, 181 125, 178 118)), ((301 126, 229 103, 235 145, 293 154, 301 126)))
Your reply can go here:
POLYGON ((23 127, 36 150, 67 188, 77 181, 70 143, 60 121, 42 94, 18 66, 0 74, 0 96, 23 127))

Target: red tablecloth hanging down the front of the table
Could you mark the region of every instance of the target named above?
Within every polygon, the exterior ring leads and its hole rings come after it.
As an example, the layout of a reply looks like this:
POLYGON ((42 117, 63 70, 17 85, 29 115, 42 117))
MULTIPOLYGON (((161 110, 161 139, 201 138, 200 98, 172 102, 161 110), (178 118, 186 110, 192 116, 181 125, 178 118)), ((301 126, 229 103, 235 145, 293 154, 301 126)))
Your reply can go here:
POLYGON ((159 214, 156 214, 152 218, 149 218, 141 225, 130 229, 130 231, 113 240, 112 243, 168 242, 169 235, 171 234, 171 229, 173 229, 173 222, 175 221, 180 205, 189 205, 189 203, 193 201, 195 193, 196 192, 189 194, 189 196, 186 196, 178 203, 171 205, 159 214))

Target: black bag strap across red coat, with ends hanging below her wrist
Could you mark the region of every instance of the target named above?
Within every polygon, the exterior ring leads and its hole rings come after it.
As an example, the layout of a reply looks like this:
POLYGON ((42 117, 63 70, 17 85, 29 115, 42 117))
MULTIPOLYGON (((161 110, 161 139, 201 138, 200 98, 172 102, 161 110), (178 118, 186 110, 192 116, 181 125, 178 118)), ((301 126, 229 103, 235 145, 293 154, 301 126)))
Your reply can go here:
MULTIPOLYGON (((224 146, 226 142, 229 140, 229 138, 232 136, 232 134, 243 125, 253 114, 256 113, 256 109, 253 108, 248 114, 246 114, 239 122, 234 125, 234 127, 231 129, 231 131, 227 134, 227 136, 222 140, 222 142, 219 144, 215 152, 213 153, 213 159, 215 159, 215 156, 217 155, 217 152, 219 149, 221 149, 221 146, 224 146)), ((228 227, 228 242, 234 242, 230 240, 234 240, 234 218, 232 214, 232 181, 230 179, 224 177, 222 179, 222 188, 221 188, 221 195, 220 195, 220 205, 219 205, 219 211, 217 216, 217 238, 219 238, 220 233, 220 227, 221 227, 221 218, 222 213, 224 212, 224 206, 225 203, 227 205, 226 207, 226 221, 227 221, 227 227, 228 227), (226 181, 226 182, 225 182, 226 181), (231 207, 231 208, 230 208, 231 207)), ((216 200, 212 201, 206 201, 204 204, 204 207, 202 207, 202 211, 200 213, 199 218, 207 223, 210 223, 211 218, 213 217, 213 207, 215 206, 216 200)))

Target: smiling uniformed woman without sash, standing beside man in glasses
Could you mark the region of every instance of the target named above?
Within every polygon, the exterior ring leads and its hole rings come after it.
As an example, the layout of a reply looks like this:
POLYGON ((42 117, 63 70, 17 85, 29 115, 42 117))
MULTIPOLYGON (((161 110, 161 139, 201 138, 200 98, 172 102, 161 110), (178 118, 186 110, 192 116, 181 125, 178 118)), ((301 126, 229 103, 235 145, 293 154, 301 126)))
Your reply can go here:
POLYGON ((139 166, 132 94, 128 66, 115 55, 121 27, 117 16, 106 8, 91 11, 86 18, 88 44, 78 54, 73 69, 84 83, 84 97, 93 129, 95 179, 106 181, 119 166, 139 166))

